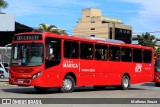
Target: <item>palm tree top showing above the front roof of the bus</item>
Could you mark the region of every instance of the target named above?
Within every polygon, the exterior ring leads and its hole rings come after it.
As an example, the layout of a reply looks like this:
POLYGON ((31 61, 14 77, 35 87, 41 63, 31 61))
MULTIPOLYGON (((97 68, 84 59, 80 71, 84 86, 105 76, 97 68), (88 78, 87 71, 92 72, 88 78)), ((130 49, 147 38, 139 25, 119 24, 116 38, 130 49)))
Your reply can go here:
POLYGON ((58 29, 55 25, 40 24, 38 29, 34 29, 38 32, 52 32, 59 35, 68 35, 65 30, 58 29))

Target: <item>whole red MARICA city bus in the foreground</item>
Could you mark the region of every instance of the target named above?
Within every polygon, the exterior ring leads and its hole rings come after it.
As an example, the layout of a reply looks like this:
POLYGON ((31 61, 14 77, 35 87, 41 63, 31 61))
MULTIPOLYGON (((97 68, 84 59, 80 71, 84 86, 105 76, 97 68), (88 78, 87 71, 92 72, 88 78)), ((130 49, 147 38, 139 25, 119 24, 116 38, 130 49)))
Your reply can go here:
POLYGON ((72 92, 75 86, 127 90, 130 84, 154 80, 153 52, 150 47, 96 38, 16 34, 9 83, 37 91, 56 87, 72 92))

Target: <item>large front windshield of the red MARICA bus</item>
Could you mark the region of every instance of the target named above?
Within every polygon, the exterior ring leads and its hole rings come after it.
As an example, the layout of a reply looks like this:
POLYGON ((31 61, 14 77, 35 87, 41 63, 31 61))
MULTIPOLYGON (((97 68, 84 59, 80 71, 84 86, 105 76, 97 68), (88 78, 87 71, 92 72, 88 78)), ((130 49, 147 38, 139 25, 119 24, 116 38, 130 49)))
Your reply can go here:
POLYGON ((41 43, 17 43, 12 47, 13 66, 38 66, 43 63, 43 44, 41 43))

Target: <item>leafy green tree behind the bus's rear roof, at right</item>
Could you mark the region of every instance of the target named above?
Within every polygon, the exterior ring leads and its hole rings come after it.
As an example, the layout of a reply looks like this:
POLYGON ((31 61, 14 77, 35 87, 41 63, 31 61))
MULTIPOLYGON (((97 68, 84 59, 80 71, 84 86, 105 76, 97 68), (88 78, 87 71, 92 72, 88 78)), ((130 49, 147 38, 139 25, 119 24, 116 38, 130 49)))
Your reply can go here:
POLYGON ((156 39, 154 35, 146 32, 145 34, 138 35, 138 44, 142 46, 155 47, 156 39))

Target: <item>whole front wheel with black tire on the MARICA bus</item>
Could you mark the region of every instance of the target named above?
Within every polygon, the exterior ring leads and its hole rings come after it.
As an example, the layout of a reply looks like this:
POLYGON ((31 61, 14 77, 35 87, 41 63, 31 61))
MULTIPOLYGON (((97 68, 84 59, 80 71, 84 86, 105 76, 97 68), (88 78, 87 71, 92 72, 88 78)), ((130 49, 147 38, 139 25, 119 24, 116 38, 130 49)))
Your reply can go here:
POLYGON ((62 87, 59 88, 62 93, 71 93, 75 88, 75 80, 72 76, 67 75, 62 83, 62 87))

